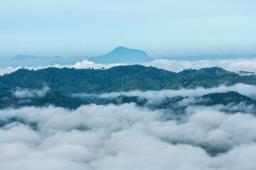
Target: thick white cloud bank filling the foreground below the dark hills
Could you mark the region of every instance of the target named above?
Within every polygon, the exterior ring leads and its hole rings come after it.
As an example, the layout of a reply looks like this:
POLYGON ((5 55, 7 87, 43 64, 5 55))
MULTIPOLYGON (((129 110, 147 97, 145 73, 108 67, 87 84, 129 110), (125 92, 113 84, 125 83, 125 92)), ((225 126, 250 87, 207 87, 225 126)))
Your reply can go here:
MULTIPOLYGON (((235 107, 235 106, 227 106, 235 107)), ((2 169, 254 169, 256 118, 225 106, 188 107, 182 121, 134 104, 9 108, 0 120, 2 169), (36 123, 33 130, 29 123, 36 123), (177 145, 172 143, 178 142, 177 145), (225 147, 210 157, 200 145, 225 147)))

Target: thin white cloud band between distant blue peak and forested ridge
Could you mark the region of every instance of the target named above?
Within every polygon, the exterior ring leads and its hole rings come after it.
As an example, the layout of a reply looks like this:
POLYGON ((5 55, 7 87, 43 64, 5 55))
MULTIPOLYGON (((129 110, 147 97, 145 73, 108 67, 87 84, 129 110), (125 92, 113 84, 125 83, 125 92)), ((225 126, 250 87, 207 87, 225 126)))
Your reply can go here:
MULTIPOLYGON (((145 66, 153 66, 159 69, 166 69, 171 72, 181 72, 183 69, 201 69, 205 67, 223 67, 223 69, 227 69, 228 71, 238 72, 238 71, 247 71, 247 72, 256 72, 256 58, 254 59, 230 59, 230 60, 199 60, 199 61, 178 61, 178 60, 154 60, 152 62, 146 63, 138 63, 145 66)), ((72 65, 60 65, 55 64, 52 67, 58 68, 77 68, 77 69, 105 69, 119 66, 119 65, 127 65, 125 63, 115 63, 115 64, 96 64, 95 62, 90 62, 87 60, 83 60, 82 62, 77 62, 72 65)), ((26 69, 43 69, 51 66, 41 66, 41 67, 25 67, 26 69)), ((0 75, 8 74, 11 72, 15 72, 17 69, 21 69, 22 67, 6 67, 0 68, 0 75)))

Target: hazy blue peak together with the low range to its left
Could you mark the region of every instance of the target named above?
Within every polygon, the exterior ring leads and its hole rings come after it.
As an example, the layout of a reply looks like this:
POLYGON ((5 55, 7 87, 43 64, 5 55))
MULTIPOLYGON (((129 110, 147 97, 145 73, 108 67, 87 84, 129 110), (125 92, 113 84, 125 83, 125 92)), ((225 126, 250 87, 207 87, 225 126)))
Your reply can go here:
POLYGON ((90 60, 95 63, 144 63, 151 62, 153 59, 146 55, 146 52, 137 49, 129 49, 127 47, 117 47, 106 55, 97 57, 39 57, 36 55, 17 55, 11 60, 0 60, 0 68, 6 67, 39 67, 54 66, 55 64, 67 65, 81 62, 82 60, 90 60))

